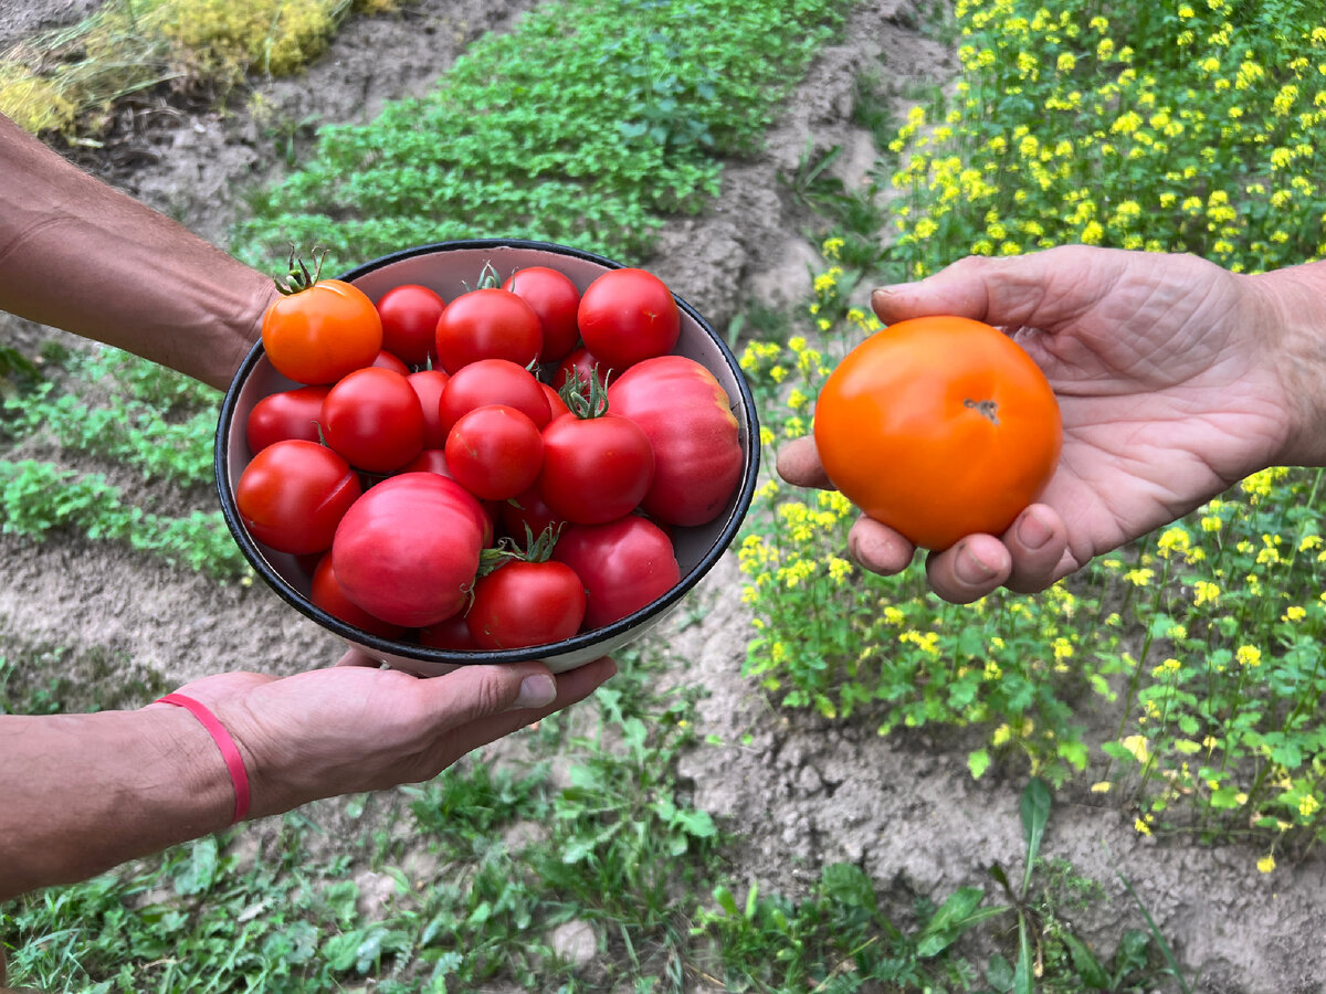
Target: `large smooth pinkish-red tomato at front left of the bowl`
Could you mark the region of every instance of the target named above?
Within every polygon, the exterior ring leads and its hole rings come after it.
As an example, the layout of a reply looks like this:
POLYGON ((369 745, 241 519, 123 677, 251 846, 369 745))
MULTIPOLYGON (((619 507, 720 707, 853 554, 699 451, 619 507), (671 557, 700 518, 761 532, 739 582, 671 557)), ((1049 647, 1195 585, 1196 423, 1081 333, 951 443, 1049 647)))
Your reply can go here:
POLYGON ((403 473, 341 521, 332 566, 345 595, 391 624, 436 624, 465 606, 479 573, 483 508, 436 473, 403 473))

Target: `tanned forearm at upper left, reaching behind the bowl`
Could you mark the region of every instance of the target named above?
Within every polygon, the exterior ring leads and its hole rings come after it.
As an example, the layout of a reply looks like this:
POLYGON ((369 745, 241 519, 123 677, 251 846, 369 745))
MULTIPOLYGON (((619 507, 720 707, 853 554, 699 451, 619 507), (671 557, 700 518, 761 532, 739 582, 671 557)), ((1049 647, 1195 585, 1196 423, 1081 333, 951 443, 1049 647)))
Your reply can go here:
POLYGON ((225 387, 273 281, 0 115, 0 310, 225 387))

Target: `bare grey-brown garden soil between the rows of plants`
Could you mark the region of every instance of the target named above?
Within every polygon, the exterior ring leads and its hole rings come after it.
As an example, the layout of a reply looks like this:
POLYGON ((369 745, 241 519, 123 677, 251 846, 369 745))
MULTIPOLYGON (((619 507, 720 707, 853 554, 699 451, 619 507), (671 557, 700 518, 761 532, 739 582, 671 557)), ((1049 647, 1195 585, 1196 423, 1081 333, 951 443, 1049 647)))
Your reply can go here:
MULTIPOLYGON (((94 5, 0 0, 0 48, 94 5)), ((316 125, 369 121, 383 101, 426 91, 467 44, 509 28, 528 5, 418 0, 391 16, 359 17, 306 76, 259 85, 260 101, 221 111, 196 94, 141 99, 117 114, 103 147, 65 151, 224 245, 245 188, 278 175, 288 151, 308 147, 316 125), (255 106, 264 110, 261 121, 251 113, 255 106)), ((647 265, 715 326, 725 327, 748 302, 796 302, 809 292, 814 237, 780 176, 838 146, 834 166, 843 182, 866 180, 875 150, 851 123, 858 73, 878 73, 902 106, 908 87, 943 82, 955 65, 952 53, 919 29, 922 17, 920 5, 908 0, 861 4, 843 42, 819 57, 789 101, 764 152, 731 163, 711 208, 663 232, 647 265)), ((24 347, 57 334, 0 321, 4 341, 24 347)), ((58 459, 58 452, 40 455, 58 459)), ((208 490, 178 500, 215 508, 208 490)), ((88 688, 88 706, 134 706, 149 693, 227 668, 293 673, 341 652, 333 636, 260 584, 219 586, 78 535, 40 545, 0 535, 0 652, 68 673, 88 688)), ((700 744, 684 755, 680 773, 695 802, 741 836, 731 848, 733 879, 743 887, 757 883, 761 893, 797 897, 823 865, 849 861, 899 909, 915 896, 943 900, 961 885, 984 887, 1001 900, 989 867, 1021 865, 1017 801, 1025 774, 991 771, 973 781, 965 766, 971 744, 959 737, 882 738, 870 722, 830 724, 773 706, 741 677, 752 628, 740 588, 729 557, 695 592, 695 610, 679 612, 655 636, 674 660, 670 679, 704 690, 700 744)), ((492 749, 500 755, 503 747, 492 749)), ((334 818, 335 808, 313 814, 334 818)), ((1099 899, 1073 916, 1099 954, 1113 954, 1126 928, 1146 928, 1126 876, 1189 982, 1197 977, 1195 990, 1326 990, 1326 861, 1285 860, 1261 875, 1258 850, 1143 838, 1134 816, 1110 795, 1069 789, 1057 795, 1045 836, 1044 856, 1070 861, 1101 887, 1099 899)), ((274 823, 260 826, 249 844, 261 844, 264 831, 274 834, 274 823)), ((427 856, 414 854, 407 863, 423 869, 427 856)), ((359 880, 370 913, 392 900, 392 888, 375 888, 382 879, 367 869, 359 880)), ((583 924, 577 929, 586 932, 583 924)), ((578 933, 566 952, 593 957, 591 933, 578 933)), ((704 981, 696 985, 709 990, 704 981)))

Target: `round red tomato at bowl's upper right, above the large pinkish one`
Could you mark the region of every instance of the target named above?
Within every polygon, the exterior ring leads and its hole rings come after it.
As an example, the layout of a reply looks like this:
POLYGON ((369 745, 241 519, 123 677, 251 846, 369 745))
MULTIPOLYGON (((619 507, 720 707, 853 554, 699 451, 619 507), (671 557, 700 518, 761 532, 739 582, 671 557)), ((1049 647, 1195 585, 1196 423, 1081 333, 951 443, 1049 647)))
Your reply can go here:
POLYGON ((682 331, 672 292, 643 269, 610 269, 595 278, 585 288, 577 321, 585 347, 617 372, 667 355, 682 331))

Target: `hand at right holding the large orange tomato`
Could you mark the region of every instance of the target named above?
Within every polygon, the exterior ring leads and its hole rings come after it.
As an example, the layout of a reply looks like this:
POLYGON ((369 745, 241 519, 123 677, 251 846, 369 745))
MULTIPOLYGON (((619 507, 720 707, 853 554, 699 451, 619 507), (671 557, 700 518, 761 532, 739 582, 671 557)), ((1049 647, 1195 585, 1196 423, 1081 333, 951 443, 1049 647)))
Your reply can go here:
MULTIPOLYGON (((936 594, 965 603, 1005 584, 1032 592, 1276 464, 1293 432, 1282 306, 1257 277, 1193 256, 1065 247, 965 258, 875 290, 887 325, 956 314, 1001 327, 1058 396, 1063 452, 1002 535, 932 553, 936 594)), ((813 439, 778 455, 788 482, 826 488, 813 439)), ((867 517, 849 547, 866 569, 906 569, 914 546, 867 517)))

